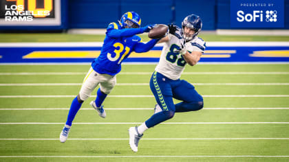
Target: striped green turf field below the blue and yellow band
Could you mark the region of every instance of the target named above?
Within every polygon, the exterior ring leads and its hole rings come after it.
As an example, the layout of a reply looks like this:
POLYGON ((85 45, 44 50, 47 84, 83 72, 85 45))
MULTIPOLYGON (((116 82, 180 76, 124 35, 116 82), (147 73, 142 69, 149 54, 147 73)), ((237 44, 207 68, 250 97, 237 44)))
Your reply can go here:
POLYGON ((147 130, 133 153, 127 130, 153 114, 155 67, 122 65, 107 118, 90 97, 60 143, 89 65, 0 65, 0 161, 289 161, 289 65, 186 67, 204 109, 147 130))

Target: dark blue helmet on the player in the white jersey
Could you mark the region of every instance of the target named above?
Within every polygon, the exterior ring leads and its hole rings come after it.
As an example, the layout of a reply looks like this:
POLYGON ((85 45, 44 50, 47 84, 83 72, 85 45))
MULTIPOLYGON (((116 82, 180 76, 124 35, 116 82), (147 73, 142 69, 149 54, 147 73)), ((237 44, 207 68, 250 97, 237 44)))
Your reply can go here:
POLYGON ((182 37, 186 40, 192 40, 199 34, 199 32, 202 30, 202 20, 200 16, 197 16, 195 14, 190 14, 189 16, 186 16, 184 18, 184 21, 182 21, 182 37), (189 27, 192 30, 195 31, 194 34, 184 33, 184 27, 189 27))

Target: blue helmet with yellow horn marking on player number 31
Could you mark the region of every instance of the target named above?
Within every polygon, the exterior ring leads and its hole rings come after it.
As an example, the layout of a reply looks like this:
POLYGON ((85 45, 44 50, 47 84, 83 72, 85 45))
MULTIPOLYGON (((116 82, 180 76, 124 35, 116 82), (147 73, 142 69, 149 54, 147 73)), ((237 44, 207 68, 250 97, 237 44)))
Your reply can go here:
POLYGON ((138 28, 141 22, 140 16, 136 12, 127 12, 120 19, 122 28, 138 28))

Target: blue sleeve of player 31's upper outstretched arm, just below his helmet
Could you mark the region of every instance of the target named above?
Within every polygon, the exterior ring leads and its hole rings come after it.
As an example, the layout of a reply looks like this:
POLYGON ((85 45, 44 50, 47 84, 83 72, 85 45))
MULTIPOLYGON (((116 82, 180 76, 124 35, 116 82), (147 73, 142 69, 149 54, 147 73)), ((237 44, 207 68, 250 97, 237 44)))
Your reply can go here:
POLYGON ((133 28, 133 29, 122 29, 122 30, 115 30, 115 29, 107 29, 107 36, 112 38, 120 38, 124 36, 133 36, 136 34, 143 33, 143 29, 140 28, 133 28))

